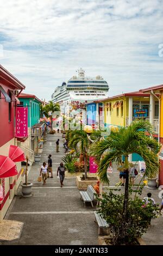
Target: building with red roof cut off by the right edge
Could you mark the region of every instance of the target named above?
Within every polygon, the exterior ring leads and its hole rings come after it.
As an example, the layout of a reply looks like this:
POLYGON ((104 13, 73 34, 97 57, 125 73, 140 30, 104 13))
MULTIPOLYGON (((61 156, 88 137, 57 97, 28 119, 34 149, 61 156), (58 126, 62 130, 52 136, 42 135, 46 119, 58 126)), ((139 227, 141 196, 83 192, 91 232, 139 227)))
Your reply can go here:
POLYGON ((150 94, 150 121, 153 125, 157 125, 158 141, 161 144, 162 150, 159 154, 160 159, 160 172, 159 172, 159 185, 163 185, 163 84, 159 86, 153 86, 146 89, 141 89, 142 93, 150 94), (158 108, 155 108, 155 102, 158 104, 158 108), (159 115, 159 120, 155 120, 155 116, 159 115))

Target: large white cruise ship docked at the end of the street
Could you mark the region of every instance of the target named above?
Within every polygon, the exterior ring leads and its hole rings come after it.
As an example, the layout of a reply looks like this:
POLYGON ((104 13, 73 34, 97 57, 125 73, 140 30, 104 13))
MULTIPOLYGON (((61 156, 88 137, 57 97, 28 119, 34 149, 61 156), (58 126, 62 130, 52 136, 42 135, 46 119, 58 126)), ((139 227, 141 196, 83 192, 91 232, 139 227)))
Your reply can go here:
POLYGON ((90 78, 85 76, 85 71, 77 70, 78 76, 72 76, 70 80, 58 86, 52 94, 53 103, 59 103, 61 112, 70 111, 71 102, 91 102, 108 97, 109 86, 102 76, 90 78))

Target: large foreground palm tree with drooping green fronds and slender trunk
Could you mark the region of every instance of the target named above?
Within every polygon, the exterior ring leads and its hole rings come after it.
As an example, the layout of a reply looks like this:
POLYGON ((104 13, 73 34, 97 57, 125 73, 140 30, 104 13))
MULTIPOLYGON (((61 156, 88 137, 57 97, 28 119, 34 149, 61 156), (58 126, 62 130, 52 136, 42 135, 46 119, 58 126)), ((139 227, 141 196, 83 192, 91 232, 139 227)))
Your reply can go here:
POLYGON ((123 202, 123 223, 121 239, 126 235, 128 194, 129 194, 129 155, 139 154, 146 163, 145 175, 147 178, 158 173, 159 162, 157 153, 159 144, 152 138, 153 127, 148 121, 133 121, 128 127, 121 127, 117 131, 111 131, 110 136, 103 138, 96 144, 92 144, 91 155, 98 163, 99 179, 109 184, 107 169, 110 163, 122 164, 122 156, 125 159, 126 184, 123 202), (149 136, 146 135, 146 132, 149 136))

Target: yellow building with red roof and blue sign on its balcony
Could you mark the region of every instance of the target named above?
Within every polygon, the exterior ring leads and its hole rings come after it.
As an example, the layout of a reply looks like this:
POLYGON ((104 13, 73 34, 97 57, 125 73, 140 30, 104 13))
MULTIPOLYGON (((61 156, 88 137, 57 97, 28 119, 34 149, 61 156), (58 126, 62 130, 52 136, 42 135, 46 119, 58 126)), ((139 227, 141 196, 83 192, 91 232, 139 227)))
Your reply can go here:
MULTIPOLYGON (((150 120, 154 125, 154 137, 158 137, 159 124, 159 102, 155 97, 153 100, 154 113, 151 115, 150 94, 143 92, 124 93, 109 97, 102 101, 104 104, 104 123, 105 127, 118 126, 126 127, 133 120, 150 120), (153 117, 153 119, 152 119, 153 117)), ((129 156, 130 161, 140 161, 141 157, 137 154, 129 156)))

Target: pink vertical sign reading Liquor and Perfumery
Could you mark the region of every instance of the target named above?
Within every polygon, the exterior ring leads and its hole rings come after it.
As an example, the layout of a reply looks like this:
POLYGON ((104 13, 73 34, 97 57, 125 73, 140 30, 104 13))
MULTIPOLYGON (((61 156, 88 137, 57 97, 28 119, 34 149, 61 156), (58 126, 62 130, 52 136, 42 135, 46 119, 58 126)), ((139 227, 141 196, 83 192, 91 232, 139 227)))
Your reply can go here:
POLYGON ((16 108, 15 137, 28 137, 28 107, 16 108))

